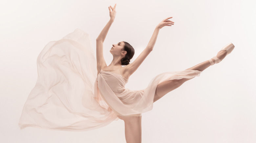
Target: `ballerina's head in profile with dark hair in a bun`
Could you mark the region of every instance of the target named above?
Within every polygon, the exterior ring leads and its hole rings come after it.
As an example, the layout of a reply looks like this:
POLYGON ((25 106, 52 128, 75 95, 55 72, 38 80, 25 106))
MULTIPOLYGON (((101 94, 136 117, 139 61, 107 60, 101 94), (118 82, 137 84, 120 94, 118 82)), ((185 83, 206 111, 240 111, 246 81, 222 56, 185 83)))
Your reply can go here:
POLYGON ((121 57, 121 65, 130 64, 130 59, 134 56, 134 48, 127 42, 121 41, 113 44, 110 53, 113 57, 121 57))

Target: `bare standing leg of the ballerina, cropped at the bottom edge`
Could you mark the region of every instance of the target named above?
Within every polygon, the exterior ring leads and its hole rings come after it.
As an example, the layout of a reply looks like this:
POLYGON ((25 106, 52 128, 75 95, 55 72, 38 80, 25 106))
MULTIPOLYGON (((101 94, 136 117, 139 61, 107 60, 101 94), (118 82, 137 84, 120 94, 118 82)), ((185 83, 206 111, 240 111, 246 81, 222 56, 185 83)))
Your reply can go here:
POLYGON ((141 143, 141 117, 142 116, 117 116, 124 120, 126 143, 141 143))

